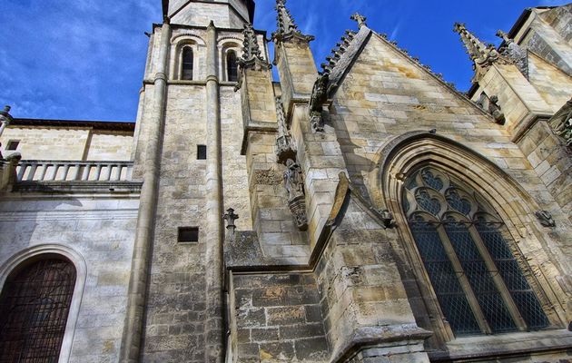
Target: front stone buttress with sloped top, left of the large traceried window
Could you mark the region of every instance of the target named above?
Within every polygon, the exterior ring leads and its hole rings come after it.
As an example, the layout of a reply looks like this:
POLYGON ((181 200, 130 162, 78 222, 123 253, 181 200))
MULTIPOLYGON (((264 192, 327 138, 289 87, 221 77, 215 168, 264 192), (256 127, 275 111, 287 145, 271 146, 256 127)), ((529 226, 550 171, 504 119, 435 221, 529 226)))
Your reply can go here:
MULTIPOLYGON (((408 354, 411 361, 427 361, 423 360, 425 354, 419 352, 426 336, 416 337, 423 331, 417 327, 409 306, 390 244, 397 240, 397 234, 384 230, 353 199, 346 203, 340 211, 339 218, 343 220, 316 268, 332 356, 347 358, 348 352, 359 348, 358 344, 383 345, 387 343, 385 339, 400 346, 399 340, 408 336, 408 347, 392 354, 408 354), (415 358, 418 353, 419 358, 415 358)), ((391 353, 385 352, 387 355, 391 353)))

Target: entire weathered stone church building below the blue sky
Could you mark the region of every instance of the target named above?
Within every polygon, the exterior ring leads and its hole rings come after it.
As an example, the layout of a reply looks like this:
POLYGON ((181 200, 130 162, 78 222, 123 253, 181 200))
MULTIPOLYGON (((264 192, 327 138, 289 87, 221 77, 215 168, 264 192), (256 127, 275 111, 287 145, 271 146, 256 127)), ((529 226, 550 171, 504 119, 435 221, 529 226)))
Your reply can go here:
POLYGON ((0 113, 0 361, 572 361, 572 5, 456 24, 468 93, 276 11, 163 0, 136 123, 0 113))

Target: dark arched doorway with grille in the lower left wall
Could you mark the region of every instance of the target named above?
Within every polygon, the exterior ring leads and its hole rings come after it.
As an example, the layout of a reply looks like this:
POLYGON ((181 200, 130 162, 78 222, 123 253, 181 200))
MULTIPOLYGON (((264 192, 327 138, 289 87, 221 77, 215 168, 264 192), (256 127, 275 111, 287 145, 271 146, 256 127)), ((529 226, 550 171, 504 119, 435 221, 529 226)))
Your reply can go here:
POLYGON ((57 362, 74 286, 74 265, 54 256, 8 277, 0 295, 0 362, 57 362))

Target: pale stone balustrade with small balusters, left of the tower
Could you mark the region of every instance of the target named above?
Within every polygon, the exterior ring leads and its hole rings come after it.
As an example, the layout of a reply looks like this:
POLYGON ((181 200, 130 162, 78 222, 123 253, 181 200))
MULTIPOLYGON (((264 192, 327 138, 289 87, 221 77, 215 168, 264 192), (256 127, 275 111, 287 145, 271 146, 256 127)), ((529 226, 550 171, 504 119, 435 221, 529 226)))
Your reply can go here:
POLYGON ((23 160, 16 167, 17 182, 126 182, 133 162, 76 162, 23 160))

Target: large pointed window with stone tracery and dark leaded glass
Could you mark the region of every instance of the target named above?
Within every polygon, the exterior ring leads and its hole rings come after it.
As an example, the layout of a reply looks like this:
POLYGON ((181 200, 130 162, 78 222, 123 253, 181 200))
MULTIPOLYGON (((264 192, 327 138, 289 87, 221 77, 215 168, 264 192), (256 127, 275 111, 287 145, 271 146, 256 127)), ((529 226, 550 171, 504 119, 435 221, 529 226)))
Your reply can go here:
POLYGON ((432 167, 410 175, 403 191, 410 231, 456 336, 548 326, 504 222, 478 191, 432 167))

